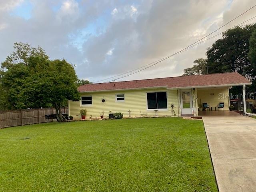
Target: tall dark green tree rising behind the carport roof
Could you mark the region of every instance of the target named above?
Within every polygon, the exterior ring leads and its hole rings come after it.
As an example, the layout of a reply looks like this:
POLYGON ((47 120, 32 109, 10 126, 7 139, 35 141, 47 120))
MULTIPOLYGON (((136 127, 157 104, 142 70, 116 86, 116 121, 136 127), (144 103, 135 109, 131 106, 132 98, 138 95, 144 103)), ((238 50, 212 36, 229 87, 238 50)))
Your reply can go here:
POLYGON ((256 29, 256 24, 236 27, 222 34, 210 48, 207 49, 209 73, 238 72, 253 80, 256 68, 248 59, 249 39, 256 29))

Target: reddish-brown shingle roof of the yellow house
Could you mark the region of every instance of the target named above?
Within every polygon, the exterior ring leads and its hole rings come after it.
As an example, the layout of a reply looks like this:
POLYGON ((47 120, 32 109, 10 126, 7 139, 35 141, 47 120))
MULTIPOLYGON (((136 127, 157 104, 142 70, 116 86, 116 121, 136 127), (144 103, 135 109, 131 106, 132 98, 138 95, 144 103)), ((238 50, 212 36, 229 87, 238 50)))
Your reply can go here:
POLYGON ((167 88, 250 84, 251 82, 237 72, 206 75, 190 75, 145 80, 133 80, 111 83, 86 84, 78 87, 79 92, 138 89, 166 86, 167 88))

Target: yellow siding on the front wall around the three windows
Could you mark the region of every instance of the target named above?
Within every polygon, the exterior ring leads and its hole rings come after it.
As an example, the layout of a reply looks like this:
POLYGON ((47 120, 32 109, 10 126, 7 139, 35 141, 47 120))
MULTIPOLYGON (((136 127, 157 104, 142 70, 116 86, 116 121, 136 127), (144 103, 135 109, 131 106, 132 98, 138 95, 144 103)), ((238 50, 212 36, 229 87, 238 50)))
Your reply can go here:
POLYGON ((145 89, 145 90, 126 90, 126 91, 105 91, 105 92, 91 92, 82 93, 81 96, 92 96, 92 106, 81 106, 81 101, 73 102, 69 101, 69 114, 74 119, 80 119, 80 109, 86 108, 86 119, 92 115, 92 118, 100 118, 100 113, 104 111, 104 117, 108 117, 108 114, 121 112, 124 114, 124 118, 129 116, 128 110, 131 110, 132 117, 140 117, 140 110, 142 113, 147 113, 148 116, 155 116, 154 110, 147 110, 147 92, 167 92, 167 107, 166 110, 159 110, 158 116, 173 116, 171 104, 174 104, 174 110, 178 116, 178 99, 177 90, 161 89, 145 89), (124 94, 124 102, 116 102, 116 94, 124 94), (102 102, 105 99, 105 102, 102 102))

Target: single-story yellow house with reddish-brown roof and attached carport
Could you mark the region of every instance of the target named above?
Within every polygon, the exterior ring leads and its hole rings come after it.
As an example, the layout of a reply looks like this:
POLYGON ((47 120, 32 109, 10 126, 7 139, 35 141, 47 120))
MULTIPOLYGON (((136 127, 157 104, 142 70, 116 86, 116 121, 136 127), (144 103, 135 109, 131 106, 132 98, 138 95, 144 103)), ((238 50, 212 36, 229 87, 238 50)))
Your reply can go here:
POLYGON ((229 110, 229 89, 250 84, 237 72, 85 84, 78 88, 81 100, 68 101, 69 114, 80 119, 80 109, 85 108, 86 119, 99 118, 102 112, 104 117, 121 112, 124 118, 198 116, 204 107, 229 110))

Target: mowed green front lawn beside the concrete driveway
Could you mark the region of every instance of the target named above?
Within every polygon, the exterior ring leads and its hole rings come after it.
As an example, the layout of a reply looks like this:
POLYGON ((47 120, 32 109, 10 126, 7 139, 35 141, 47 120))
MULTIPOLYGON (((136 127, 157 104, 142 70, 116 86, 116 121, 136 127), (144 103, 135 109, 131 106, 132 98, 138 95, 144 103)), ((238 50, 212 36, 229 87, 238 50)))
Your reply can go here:
POLYGON ((0 130, 0 191, 217 188, 202 121, 139 118, 0 130))

